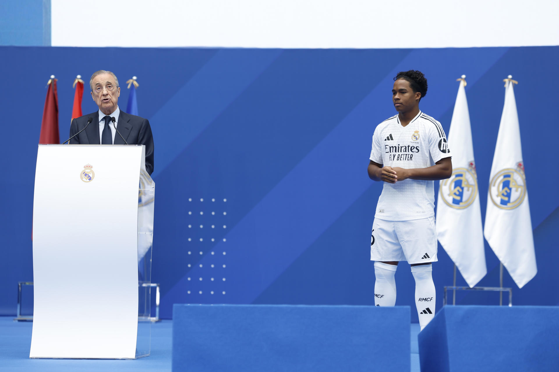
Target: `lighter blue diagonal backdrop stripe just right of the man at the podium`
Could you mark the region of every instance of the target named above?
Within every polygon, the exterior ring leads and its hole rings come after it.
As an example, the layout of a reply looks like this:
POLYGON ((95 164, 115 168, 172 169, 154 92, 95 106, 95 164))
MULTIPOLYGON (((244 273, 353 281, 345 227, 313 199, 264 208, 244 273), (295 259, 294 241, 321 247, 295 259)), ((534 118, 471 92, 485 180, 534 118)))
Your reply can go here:
POLYGON ((278 49, 217 52, 151 119, 159 123, 152 127, 159 143, 153 176, 162 172, 281 53, 278 49))

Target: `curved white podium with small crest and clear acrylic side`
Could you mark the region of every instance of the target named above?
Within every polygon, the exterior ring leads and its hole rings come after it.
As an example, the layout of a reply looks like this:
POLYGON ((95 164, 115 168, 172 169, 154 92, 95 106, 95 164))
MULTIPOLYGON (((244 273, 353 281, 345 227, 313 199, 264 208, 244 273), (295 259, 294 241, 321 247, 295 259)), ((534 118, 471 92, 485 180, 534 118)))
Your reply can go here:
POLYGON ((30 358, 150 355, 155 183, 142 145, 39 145, 30 358))

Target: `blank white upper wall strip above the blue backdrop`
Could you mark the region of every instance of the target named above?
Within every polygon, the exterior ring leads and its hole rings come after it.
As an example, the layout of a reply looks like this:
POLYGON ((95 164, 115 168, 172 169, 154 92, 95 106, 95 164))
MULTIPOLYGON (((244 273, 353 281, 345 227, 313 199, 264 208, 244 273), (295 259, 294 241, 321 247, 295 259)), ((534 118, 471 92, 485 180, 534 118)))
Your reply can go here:
POLYGON ((51 0, 51 45, 559 45, 557 0, 51 0))

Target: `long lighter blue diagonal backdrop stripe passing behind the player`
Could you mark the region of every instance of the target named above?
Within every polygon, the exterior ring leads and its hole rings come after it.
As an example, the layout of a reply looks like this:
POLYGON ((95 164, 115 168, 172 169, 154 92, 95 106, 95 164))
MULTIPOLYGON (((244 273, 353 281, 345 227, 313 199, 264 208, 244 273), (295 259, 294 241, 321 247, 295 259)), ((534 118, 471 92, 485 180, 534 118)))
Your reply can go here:
MULTIPOLYGON (((471 71, 470 81, 475 83, 506 50, 487 49, 487 64, 483 67, 476 66, 467 52, 411 52, 226 235, 226 243, 216 245, 216 251, 228 254, 228 298, 234 303, 252 303, 371 186, 366 174, 371 135, 377 123, 392 115, 390 90, 397 71, 423 70, 427 76, 433 76, 430 83, 435 81, 434 86, 440 85, 440 79, 452 81, 463 71, 471 71), (433 59, 448 59, 438 63, 453 64, 459 73, 446 71, 450 76, 437 75, 439 71, 430 70, 433 59), (266 254, 260 254, 262 250, 266 254)), ((437 102, 434 107, 439 109, 425 112, 437 116, 452 107, 455 96, 442 89, 433 90, 430 99, 437 102)), ((368 207, 374 209, 375 203, 372 200, 368 207)), ((193 268, 189 276, 197 277, 197 270, 193 268)), ((172 292, 184 287, 183 278, 168 294, 172 296, 172 292)))

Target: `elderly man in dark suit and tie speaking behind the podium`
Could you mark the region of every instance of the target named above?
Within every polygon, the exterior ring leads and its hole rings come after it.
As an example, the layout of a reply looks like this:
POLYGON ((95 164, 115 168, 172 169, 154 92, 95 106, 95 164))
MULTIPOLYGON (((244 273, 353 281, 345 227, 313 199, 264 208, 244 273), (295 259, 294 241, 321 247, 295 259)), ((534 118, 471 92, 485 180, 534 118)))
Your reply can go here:
POLYGON ((111 71, 99 70, 89 79, 91 96, 99 110, 75 118, 70 124, 71 144, 145 144, 145 169, 153 173, 153 137, 148 119, 130 115, 119 109, 119 79, 111 71), (115 118, 115 122, 112 122, 115 118), (86 127, 87 125, 87 127, 86 127), (122 135, 116 133, 116 129, 122 135), (116 134, 116 136, 115 136, 116 134), (123 139, 124 138, 124 139, 123 139))

